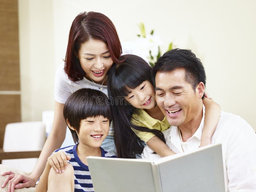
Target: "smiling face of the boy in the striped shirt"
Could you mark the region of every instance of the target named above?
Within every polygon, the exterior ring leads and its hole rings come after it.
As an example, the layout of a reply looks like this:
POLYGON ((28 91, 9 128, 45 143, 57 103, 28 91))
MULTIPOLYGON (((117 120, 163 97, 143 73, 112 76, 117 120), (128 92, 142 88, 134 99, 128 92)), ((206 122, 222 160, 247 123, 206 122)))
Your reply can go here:
POLYGON ((103 116, 87 117, 80 121, 79 144, 99 148, 109 131, 109 120, 103 116))

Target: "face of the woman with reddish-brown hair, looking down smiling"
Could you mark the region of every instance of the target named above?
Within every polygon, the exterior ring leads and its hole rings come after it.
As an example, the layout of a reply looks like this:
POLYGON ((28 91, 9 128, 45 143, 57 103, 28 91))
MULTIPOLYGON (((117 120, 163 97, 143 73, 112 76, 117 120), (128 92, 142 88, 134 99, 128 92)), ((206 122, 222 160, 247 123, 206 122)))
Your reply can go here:
POLYGON ((77 57, 86 73, 85 78, 90 81, 92 79, 97 84, 103 82, 113 64, 107 44, 95 39, 81 44, 77 57))

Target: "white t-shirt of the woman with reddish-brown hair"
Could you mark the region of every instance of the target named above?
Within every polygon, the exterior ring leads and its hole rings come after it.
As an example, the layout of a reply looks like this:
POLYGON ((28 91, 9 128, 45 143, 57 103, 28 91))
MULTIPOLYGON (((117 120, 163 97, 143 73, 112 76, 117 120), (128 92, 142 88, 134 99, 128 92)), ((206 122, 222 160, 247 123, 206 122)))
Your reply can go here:
MULTIPOLYGON (((133 43, 126 42, 122 44, 122 50, 124 54, 138 55, 144 60, 146 57, 140 50, 137 50, 133 43)), ((64 71, 64 63, 57 69, 54 81, 54 99, 59 103, 65 103, 68 97, 75 91, 82 88, 90 88, 102 91, 108 96, 108 90, 106 85, 102 85, 102 90, 99 89, 101 85, 95 84, 84 77, 84 79, 76 82, 72 82, 68 79, 68 75, 64 71)), ((113 135, 112 126, 109 128, 108 135, 113 135)))

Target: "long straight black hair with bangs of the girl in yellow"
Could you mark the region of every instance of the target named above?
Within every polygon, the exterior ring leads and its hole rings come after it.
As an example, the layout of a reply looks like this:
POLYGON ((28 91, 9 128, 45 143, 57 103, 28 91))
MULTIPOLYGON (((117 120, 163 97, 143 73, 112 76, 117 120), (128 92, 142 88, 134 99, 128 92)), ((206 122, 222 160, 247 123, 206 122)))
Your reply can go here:
MULTIPOLYGON (((165 139, 159 130, 132 124, 132 115, 139 114, 136 108, 125 100, 125 96, 129 94, 128 88, 135 89, 146 80, 152 84, 151 67, 136 55, 123 55, 119 60, 124 62, 114 63, 108 71, 108 97, 112 106, 116 153, 119 158, 136 158, 136 155, 142 153, 145 143, 132 131, 132 128, 154 133, 164 142, 165 139)), ((133 120, 136 121, 136 119, 133 120)))

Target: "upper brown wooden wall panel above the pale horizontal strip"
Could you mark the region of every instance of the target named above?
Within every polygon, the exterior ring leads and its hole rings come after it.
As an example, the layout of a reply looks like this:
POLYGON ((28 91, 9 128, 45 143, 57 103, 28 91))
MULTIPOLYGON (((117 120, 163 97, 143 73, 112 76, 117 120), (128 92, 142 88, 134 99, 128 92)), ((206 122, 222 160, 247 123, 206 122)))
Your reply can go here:
POLYGON ((0 26, 0 91, 20 91, 17 0, 0 0, 0 26))

